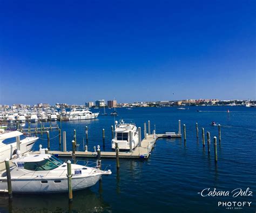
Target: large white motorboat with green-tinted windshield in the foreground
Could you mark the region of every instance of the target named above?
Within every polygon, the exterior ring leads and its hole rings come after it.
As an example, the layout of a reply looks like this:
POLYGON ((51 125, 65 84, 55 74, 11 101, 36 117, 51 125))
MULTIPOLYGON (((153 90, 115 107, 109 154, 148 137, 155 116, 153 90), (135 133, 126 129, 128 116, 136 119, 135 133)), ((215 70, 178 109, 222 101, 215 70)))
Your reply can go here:
MULTIPOLYGON (((60 193, 68 191, 67 163, 53 155, 33 154, 13 161, 11 185, 13 193, 60 193)), ((71 164, 72 190, 95 185, 102 175, 111 175, 110 170, 71 164)), ((0 177, 0 191, 8 191, 6 173, 0 177)))

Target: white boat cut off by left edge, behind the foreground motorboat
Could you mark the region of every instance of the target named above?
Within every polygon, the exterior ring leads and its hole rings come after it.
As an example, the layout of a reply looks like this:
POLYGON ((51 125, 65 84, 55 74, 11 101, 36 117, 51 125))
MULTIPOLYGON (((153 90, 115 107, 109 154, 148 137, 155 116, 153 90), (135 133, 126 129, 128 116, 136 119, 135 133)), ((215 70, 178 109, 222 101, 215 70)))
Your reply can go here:
POLYGON ((6 158, 12 159, 12 157, 16 156, 17 138, 20 141, 22 154, 29 152, 38 139, 33 136, 25 137, 19 131, 5 132, 3 129, 0 129, 0 162, 3 162, 6 158))

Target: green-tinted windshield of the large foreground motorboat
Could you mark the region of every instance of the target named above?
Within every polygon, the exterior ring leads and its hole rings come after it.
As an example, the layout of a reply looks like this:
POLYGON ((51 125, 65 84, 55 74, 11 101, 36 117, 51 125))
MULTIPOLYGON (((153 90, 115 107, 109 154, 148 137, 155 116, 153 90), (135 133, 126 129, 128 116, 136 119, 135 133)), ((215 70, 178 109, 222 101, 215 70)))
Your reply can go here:
POLYGON ((49 159, 44 159, 39 162, 24 162, 24 169, 32 171, 52 170, 58 168, 62 163, 62 160, 57 159, 55 156, 51 156, 49 159))

